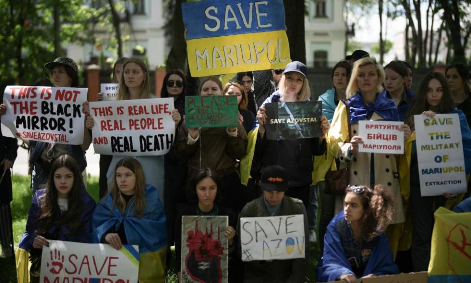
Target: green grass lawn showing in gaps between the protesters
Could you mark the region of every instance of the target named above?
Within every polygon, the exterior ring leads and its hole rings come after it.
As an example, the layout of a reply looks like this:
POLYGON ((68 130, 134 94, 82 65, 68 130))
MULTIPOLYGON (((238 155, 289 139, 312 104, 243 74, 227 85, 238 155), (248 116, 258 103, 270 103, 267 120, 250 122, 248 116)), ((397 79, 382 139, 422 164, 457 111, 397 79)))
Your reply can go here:
MULTIPOLYGON (((15 250, 18 248, 18 242, 23 235, 26 227, 26 219, 28 216, 29 206, 31 204, 32 196, 29 189, 29 176, 14 175, 12 177, 13 183, 13 201, 11 202, 11 210, 13 216, 13 240, 15 242, 15 250)), ((87 178, 87 192, 90 196, 98 201, 99 186, 98 177, 87 178)), ((319 211, 320 212, 320 211, 319 211)), ((317 217, 319 217, 317 214, 317 217)), ((321 253, 317 245, 310 246, 310 262, 308 274, 305 282, 315 282, 315 265, 321 253)), ((172 258, 175 258, 174 249, 172 249, 172 258)), ((171 260, 173 262, 174 260, 171 260)), ((14 258, 0 258, 0 283, 16 283, 16 267, 14 258)), ((167 276, 165 279, 167 283, 177 283, 177 276, 173 272, 173 264, 168 268, 167 276)))

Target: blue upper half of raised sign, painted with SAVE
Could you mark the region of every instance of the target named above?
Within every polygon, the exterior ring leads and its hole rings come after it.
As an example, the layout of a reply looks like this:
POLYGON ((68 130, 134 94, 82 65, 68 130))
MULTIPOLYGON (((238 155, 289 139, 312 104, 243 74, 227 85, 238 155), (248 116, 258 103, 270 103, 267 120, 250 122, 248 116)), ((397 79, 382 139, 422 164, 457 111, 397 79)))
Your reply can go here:
POLYGON ((285 29, 283 0, 205 0, 182 3, 186 39, 285 29))

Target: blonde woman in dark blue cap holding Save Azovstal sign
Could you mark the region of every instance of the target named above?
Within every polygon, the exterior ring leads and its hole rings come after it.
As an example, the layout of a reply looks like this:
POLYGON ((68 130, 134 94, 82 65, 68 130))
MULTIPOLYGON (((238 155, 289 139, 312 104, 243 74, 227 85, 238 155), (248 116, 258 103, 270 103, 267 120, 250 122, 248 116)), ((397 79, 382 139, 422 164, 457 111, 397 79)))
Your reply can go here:
MULTIPOLYGON (((281 165, 288 172, 288 195, 300 199, 304 206, 309 204, 310 185, 313 182, 312 171, 314 156, 325 152, 325 138, 298 138, 268 140, 265 135, 265 123, 268 117, 266 103, 305 102, 309 101, 311 89, 307 79, 306 65, 294 61, 289 63, 279 83, 280 89, 265 100, 257 113, 259 123, 255 156, 261 160, 261 172, 266 166, 281 165)), ((325 116, 320 119, 322 132, 329 130, 329 121, 325 116)))

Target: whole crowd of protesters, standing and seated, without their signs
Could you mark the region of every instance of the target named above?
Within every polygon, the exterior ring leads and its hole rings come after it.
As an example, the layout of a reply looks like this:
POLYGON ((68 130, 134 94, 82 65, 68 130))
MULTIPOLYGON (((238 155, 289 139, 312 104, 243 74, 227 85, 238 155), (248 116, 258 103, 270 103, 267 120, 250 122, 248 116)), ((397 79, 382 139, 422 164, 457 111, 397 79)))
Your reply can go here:
MULTIPOLYGON (((51 85, 78 87, 78 68, 72 59, 59 57, 45 68, 50 70, 51 85)), ((239 73, 226 85, 218 77, 198 79, 170 71, 160 94, 175 103, 172 119, 177 138, 170 152, 101 155, 98 204, 86 192, 82 176, 87 166, 85 151, 92 140, 89 129, 94 127, 85 102, 83 144, 25 140, 30 148, 33 199, 17 260, 29 260, 30 282, 39 282, 41 249, 49 240, 105 243, 116 249, 133 244, 139 246, 139 281, 164 282, 169 247, 175 245, 173 265, 180 281, 182 217, 225 215, 229 217, 224 231, 229 243, 229 282, 304 282, 312 256, 309 243, 323 251, 317 259, 318 282, 350 283, 363 277, 426 271, 434 210, 456 206, 463 212, 471 207, 470 199, 457 206, 469 192, 421 196, 414 115, 459 115, 469 174, 471 81, 468 66, 455 63, 446 68, 445 75, 427 74, 414 93, 412 71, 407 62, 392 61, 383 67, 365 51, 354 51, 334 66, 332 88, 319 97, 321 137, 278 140, 266 137, 270 117, 265 104, 312 101, 315 86, 310 85, 303 63, 239 73), (238 126, 187 127, 184 100, 193 94, 236 96, 238 126), (404 122, 400 128, 404 154, 360 152, 365 137, 359 136, 359 121, 365 120, 404 122), (248 155, 252 162, 247 166, 240 160, 248 155), (345 192, 327 192, 326 172, 346 167, 350 185, 345 192), (247 184, 241 178, 244 171, 250 175, 247 184), (241 261, 241 217, 292 214, 304 216, 304 258, 241 261)), ((113 81, 119 83, 118 100, 156 98, 150 93, 148 68, 139 59, 116 61, 113 81)), ((48 85, 48 81, 38 85, 48 85)), ((102 99, 99 94, 98 100, 102 99)), ((1 104, 0 115, 6 111, 1 104)), ((0 241, 3 255, 11 257, 9 168, 18 146, 15 139, 0 138, 0 241)))

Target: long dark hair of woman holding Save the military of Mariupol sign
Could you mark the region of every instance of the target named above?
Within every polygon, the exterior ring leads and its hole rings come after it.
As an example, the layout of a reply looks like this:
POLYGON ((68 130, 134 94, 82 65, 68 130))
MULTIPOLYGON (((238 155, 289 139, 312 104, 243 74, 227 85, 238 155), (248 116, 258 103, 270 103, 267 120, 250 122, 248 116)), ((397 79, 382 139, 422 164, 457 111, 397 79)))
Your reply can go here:
POLYGON ((450 85, 448 80, 442 73, 430 72, 422 79, 419 86, 419 92, 417 93, 415 103, 409 110, 407 115, 407 124, 411 127, 411 130, 415 129, 414 126, 414 115, 420 115, 423 111, 428 111, 431 108, 431 105, 427 103, 427 92, 428 92, 428 83, 432 79, 437 79, 442 85, 443 95, 438 108, 435 109, 435 112, 438 113, 449 113, 455 108, 455 103, 453 102, 453 96, 451 94, 450 85))

